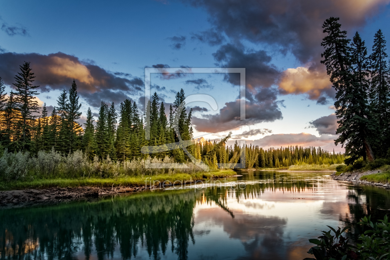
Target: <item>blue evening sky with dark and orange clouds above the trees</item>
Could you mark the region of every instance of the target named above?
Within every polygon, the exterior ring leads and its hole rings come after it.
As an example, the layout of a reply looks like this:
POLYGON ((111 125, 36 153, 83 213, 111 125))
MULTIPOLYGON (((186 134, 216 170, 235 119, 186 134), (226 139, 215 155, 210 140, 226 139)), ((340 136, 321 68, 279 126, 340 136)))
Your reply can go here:
MULTIPOLYGON (((145 101, 145 68, 245 68, 246 119, 240 120, 239 75, 151 75, 151 92, 174 102, 207 94, 218 109, 191 103, 194 137, 213 140, 232 129, 232 141, 261 147, 334 145, 335 91, 320 64, 322 24, 340 17, 348 37, 358 31, 369 52, 381 29, 390 37, 390 0, 144 0, 1 1, 0 76, 11 91, 14 75, 31 62, 39 104, 49 113, 73 78, 88 107, 101 101, 145 101), (246 126, 241 127, 240 126, 246 126), (243 131, 245 129, 245 131, 243 131)), ((169 110, 166 109, 166 113, 169 110)))

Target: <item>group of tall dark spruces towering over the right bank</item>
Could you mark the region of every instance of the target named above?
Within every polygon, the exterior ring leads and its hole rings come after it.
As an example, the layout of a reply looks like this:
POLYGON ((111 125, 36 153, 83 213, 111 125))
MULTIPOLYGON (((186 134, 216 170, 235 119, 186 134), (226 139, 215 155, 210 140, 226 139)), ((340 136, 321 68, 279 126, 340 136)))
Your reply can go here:
POLYGON ((336 90, 335 144, 345 147, 347 164, 361 157, 364 161, 390 157, 390 71, 382 31, 375 33, 368 55, 358 32, 347 39, 339 18, 326 19, 323 28, 321 63, 336 90))

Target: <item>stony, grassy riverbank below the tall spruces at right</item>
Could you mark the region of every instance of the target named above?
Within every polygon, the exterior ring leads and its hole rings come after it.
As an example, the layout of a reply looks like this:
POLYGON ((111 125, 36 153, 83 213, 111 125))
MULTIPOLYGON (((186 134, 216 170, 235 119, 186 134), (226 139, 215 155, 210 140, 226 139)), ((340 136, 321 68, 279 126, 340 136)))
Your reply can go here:
POLYGON ((336 175, 336 173, 332 173, 330 176, 333 180, 344 180, 349 182, 357 182, 366 185, 384 187, 386 189, 390 189, 390 185, 388 183, 388 178, 386 175, 388 171, 384 170, 369 170, 363 172, 344 172, 340 175, 336 175), (385 178, 383 178, 385 177, 385 178))

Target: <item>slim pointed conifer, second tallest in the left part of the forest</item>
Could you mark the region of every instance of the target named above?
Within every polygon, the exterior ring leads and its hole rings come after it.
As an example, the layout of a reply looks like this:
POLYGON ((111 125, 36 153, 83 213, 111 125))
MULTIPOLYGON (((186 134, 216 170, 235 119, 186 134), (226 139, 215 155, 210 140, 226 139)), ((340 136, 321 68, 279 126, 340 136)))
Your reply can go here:
POLYGON ((76 121, 81 117, 81 104, 78 103, 77 85, 73 80, 72 87, 69 90, 69 103, 66 106, 66 122, 67 122, 67 134, 68 144, 67 149, 69 152, 73 152, 78 147, 78 141, 80 136, 80 124, 76 121))

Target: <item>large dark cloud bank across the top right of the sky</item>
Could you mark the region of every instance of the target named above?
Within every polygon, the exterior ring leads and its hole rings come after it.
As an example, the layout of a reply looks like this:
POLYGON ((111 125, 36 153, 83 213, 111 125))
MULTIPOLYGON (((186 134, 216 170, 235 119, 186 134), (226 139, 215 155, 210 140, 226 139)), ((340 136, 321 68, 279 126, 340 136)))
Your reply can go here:
POLYGON ((344 28, 356 28, 381 11, 389 0, 183 0, 206 9, 217 32, 232 42, 243 40, 279 46, 301 62, 317 59, 323 51, 321 25, 330 16, 341 17, 344 28))

